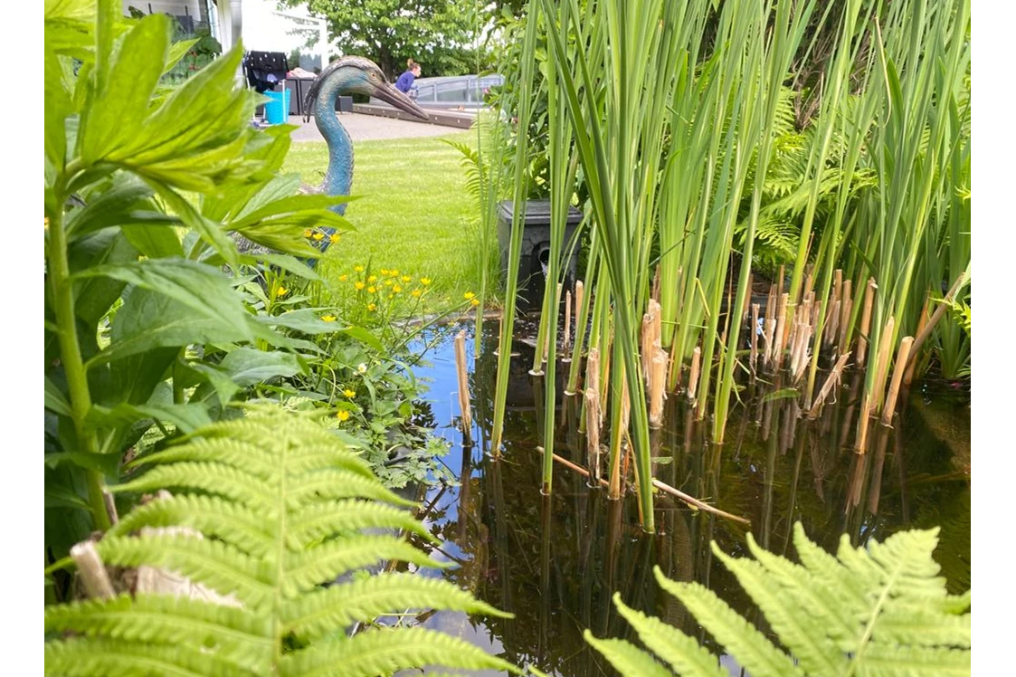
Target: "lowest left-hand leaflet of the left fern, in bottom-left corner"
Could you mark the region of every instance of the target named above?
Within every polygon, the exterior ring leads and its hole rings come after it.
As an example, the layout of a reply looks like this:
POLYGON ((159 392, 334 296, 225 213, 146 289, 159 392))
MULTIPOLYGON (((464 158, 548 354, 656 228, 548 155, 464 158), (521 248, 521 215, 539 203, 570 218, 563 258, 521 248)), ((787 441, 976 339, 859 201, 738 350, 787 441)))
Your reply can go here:
POLYGON ((267 674, 251 672, 186 645, 90 637, 47 642, 43 649, 43 673, 65 677, 249 677, 267 674))

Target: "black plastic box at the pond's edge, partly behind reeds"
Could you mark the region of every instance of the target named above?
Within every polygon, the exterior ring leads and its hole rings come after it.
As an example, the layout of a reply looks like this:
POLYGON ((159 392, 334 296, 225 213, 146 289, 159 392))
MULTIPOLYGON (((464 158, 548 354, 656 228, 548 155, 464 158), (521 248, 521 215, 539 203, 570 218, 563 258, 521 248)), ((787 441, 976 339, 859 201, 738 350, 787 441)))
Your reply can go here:
MULTIPOLYGON (((511 222, 514 202, 504 200, 498 204, 498 244, 501 248, 501 273, 508 274, 508 249, 511 239, 511 222)), ((568 208, 565 224, 565 245, 571 241, 575 229, 582 223, 582 212, 575 207, 568 208)), ((519 310, 538 309, 544 302, 547 280, 544 270, 551 253, 551 201, 527 200, 525 220, 522 223, 522 254, 518 262, 518 303, 519 310)), ((566 262, 566 282, 575 280, 578 264, 578 247, 566 262)))

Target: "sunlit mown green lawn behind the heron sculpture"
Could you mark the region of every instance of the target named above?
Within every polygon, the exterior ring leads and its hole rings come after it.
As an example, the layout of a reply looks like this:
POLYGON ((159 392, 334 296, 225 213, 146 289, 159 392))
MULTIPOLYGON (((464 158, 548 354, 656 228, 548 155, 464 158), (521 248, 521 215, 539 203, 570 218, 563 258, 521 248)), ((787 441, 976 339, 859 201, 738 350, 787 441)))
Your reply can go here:
MULTIPOLYGON (((474 291, 470 263, 475 241, 475 199, 465 190, 461 155, 441 138, 473 142, 470 132, 444 137, 362 141, 356 144, 353 194, 345 216, 357 228, 328 249, 319 272, 334 285, 357 264, 397 268, 434 280, 432 306, 452 304, 474 291)), ((324 142, 299 142, 282 169, 318 186, 328 164, 324 142)), ((345 283, 348 284, 348 283, 345 283)))

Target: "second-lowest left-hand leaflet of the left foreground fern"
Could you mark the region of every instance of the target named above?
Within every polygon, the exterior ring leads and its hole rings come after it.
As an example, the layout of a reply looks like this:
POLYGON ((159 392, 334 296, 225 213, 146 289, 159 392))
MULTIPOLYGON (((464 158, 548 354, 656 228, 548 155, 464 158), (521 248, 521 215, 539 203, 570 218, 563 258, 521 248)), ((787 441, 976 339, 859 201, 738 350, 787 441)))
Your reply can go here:
POLYGON ((274 650, 266 618, 186 597, 121 595, 48 607, 43 615, 45 632, 154 644, 197 641, 202 651, 251 671, 269 664, 274 650))

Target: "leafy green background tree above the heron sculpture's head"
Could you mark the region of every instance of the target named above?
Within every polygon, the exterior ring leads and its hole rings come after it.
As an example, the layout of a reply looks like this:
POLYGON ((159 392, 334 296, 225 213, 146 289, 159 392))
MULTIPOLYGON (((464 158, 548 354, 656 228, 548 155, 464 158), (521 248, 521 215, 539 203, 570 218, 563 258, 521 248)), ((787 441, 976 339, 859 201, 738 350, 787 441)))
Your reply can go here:
MULTIPOLYGON (((304 0, 280 0, 285 5, 304 0)), ((475 70, 472 47, 481 17, 468 0, 307 0, 312 13, 328 20, 331 38, 344 54, 373 59, 396 76, 406 59, 419 61, 426 75, 459 75, 475 70)))

